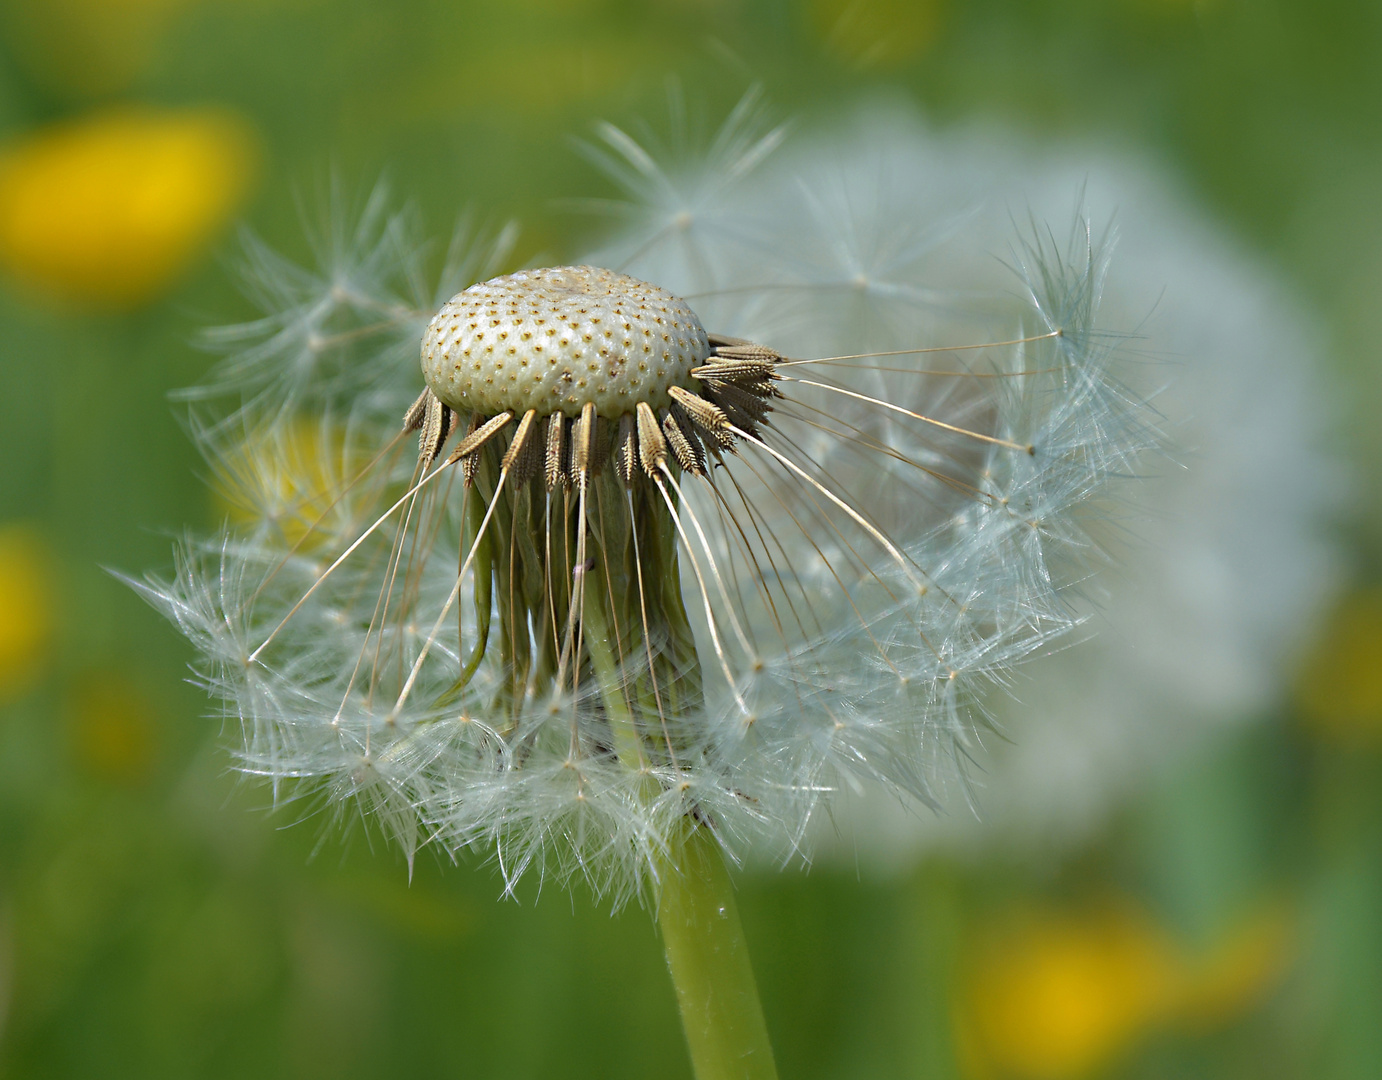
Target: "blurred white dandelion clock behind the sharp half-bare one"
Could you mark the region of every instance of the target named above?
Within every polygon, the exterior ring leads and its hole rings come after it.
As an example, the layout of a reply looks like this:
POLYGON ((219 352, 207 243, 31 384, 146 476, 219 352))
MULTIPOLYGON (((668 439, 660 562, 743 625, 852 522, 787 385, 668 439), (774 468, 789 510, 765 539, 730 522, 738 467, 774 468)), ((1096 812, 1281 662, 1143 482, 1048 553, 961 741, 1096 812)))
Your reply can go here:
MULTIPOLYGON (((797 131, 732 189, 706 196, 679 167, 661 183, 680 203, 596 259, 632 257, 712 310, 738 306, 745 336, 839 351, 905 348, 954 335, 955 310, 1001 307, 1012 221, 1059 220, 1082 192, 1118 227, 1101 311, 1132 332, 1122 371, 1169 418, 1175 455, 1143 467, 1142 512, 1093 527, 1117 570, 1066 593, 1090 640, 984 698, 1001 736, 970 747, 978 816, 916 814, 865 788, 822 821, 824 853, 891 868, 937 845, 1043 857, 1281 698, 1338 574, 1327 535, 1345 481, 1324 449, 1317 336, 1155 170, 996 131, 943 136, 872 104, 797 131), (742 286, 763 282, 771 297, 750 289, 745 304, 742 286)), ((650 184, 626 187, 641 198, 650 184)))

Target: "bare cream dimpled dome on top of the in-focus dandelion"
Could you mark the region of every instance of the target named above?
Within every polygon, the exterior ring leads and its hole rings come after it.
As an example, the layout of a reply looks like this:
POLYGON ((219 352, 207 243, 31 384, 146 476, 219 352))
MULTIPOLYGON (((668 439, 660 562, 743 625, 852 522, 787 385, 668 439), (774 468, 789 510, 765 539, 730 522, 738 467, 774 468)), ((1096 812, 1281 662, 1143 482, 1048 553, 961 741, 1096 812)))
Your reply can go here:
POLYGON ((684 300, 598 267, 551 267, 471 285, 423 335, 423 378, 459 412, 614 419, 668 404, 710 353, 684 300))

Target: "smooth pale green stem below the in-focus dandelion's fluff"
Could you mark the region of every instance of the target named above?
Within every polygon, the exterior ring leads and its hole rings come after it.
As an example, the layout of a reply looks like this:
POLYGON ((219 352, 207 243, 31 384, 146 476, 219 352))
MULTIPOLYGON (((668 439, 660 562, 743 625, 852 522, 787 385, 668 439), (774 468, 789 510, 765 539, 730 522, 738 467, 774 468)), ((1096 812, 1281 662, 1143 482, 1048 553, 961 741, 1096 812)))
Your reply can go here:
POLYGON ((692 827, 669 853, 658 924, 697 1080, 777 1080, 724 856, 692 827))

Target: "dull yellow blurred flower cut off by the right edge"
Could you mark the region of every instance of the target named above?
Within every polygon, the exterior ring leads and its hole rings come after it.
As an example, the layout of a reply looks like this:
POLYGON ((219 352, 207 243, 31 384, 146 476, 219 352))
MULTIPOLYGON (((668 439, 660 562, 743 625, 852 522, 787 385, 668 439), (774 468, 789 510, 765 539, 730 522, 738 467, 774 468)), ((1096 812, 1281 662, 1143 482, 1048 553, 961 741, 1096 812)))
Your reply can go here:
POLYGON ((1343 599, 1306 657, 1296 701, 1316 734, 1382 744, 1382 588, 1343 599))

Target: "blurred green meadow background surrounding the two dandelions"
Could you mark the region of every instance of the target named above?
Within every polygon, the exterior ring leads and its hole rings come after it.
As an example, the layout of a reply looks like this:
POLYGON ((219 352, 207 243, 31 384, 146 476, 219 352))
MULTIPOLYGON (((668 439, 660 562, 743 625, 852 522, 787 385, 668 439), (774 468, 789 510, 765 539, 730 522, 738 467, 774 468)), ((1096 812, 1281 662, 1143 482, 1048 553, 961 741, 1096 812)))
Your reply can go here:
MULTIPOLYGON (((214 105, 257 133, 242 213, 274 245, 305 254, 301 207, 334 170, 361 191, 387 176, 438 236, 466 207, 517 217, 520 260, 575 252, 590 223, 558 201, 611 194, 569 136, 656 126, 669 79, 706 126, 761 82, 784 116, 889 93, 943 124, 1139 148, 1318 313, 1354 466, 1341 535, 1372 581, 1379 55, 1367 0, 14 0, 0 140, 116 104, 214 105)), ((0 290, 0 549, 19 582, 0 620, 46 621, 0 633, 22 658, 0 679, 0 1076, 687 1074, 647 913, 556 886, 500 900, 478 859, 423 857, 409 884, 358 823, 340 841, 310 808, 263 813, 198 719, 185 643, 108 575, 166 566, 170 534, 220 514, 166 394, 210 362, 199 326, 250 314, 224 266, 203 252, 119 311, 19 277, 0 290)), ((1289 947, 1226 961, 1212 1025, 1158 1014, 1095 1074, 1382 1076, 1382 727, 1367 694, 1342 694, 1364 701, 1350 727, 1310 693, 1382 667, 1376 620, 1359 625, 1349 664, 1312 658, 1303 704, 1059 863, 741 874, 782 1074, 998 1074, 955 1037, 991 927, 1119 896, 1184 957, 1263 907, 1288 913, 1289 947)))

